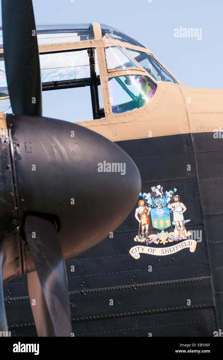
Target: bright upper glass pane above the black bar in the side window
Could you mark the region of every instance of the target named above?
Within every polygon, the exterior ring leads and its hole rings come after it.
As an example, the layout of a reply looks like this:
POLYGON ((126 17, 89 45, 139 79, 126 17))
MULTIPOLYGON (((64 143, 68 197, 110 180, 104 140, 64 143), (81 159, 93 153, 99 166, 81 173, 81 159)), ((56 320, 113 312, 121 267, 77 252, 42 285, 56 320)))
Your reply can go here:
POLYGON ((41 82, 90 77, 87 50, 40 54, 41 82))

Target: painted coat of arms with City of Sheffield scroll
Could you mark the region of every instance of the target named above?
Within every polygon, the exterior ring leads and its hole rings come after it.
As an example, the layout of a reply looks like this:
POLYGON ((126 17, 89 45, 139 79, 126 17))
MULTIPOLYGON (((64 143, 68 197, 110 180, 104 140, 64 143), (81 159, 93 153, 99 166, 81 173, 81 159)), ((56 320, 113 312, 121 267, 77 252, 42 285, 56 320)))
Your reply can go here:
POLYGON ((163 186, 158 185, 156 187, 152 186, 151 190, 150 193, 140 193, 141 199, 138 201, 138 207, 135 210, 135 218, 139 222, 139 233, 134 240, 135 242, 144 243, 145 246, 131 248, 129 251, 131 256, 138 259, 140 253, 159 256, 168 255, 186 247, 191 252, 194 252, 196 240, 190 239, 191 233, 185 229, 185 224, 190 219, 184 219, 183 214, 187 208, 181 202, 180 196, 176 194, 177 189, 174 188, 164 193, 163 186), (149 234, 151 225, 154 229, 158 229, 159 233, 149 234), (172 232, 165 231, 172 226, 174 226, 172 232), (146 246, 169 243, 174 243, 174 245, 166 248, 146 246))

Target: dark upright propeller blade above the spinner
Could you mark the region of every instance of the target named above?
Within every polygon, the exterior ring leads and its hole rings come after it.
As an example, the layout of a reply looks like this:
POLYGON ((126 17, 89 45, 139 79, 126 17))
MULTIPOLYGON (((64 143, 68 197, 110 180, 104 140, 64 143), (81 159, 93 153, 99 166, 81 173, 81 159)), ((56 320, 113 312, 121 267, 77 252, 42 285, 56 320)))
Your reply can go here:
POLYGON ((5 71, 16 114, 42 114, 40 59, 32 0, 2 0, 5 71))

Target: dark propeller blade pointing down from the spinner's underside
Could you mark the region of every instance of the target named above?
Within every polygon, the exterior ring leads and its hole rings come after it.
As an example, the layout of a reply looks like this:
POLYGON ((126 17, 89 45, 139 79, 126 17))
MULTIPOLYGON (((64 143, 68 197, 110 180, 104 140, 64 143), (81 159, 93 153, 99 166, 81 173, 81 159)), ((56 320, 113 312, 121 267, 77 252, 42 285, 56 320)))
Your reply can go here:
MULTIPOLYGON (((37 291, 33 292, 34 284, 31 287, 29 282, 30 301, 34 299, 37 302, 37 309, 33 311, 33 316, 37 320, 38 335, 41 336, 40 334, 50 332, 50 336, 70 336, 68 285, 56 226, 48 219, 27 215, 24 231, 44 296, 43 299, 42 294, 37 295, 37 291), (43 300, 45 300, 45 304, 43 300), (38 311, 42 311, 42 314, 38 314, 38 311), (44 318, 44 321, 41 325, 42 318, 44 318), (45 326, 48 325, 50 325, 50 328, 45 329, 45 326), (52 333, 55 333, 55 335, 52 335, 52 333)), ((35 274, 29 274, 28 281, 30 279, 36 280, 35 277, 35 274)), ((40 284, 35 281, 38 289, 40 284)), ((31 305, 31 307, 33 309, 34 305, 31 305)))

